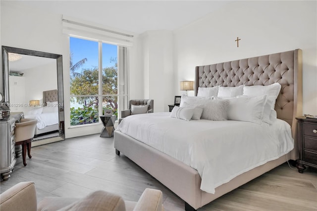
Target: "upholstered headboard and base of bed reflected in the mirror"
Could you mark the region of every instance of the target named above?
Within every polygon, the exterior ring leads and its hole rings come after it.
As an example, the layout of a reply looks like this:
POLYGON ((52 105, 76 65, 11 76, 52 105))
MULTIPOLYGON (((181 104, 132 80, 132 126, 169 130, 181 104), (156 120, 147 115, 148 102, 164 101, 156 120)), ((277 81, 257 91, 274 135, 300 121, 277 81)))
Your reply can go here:
MULTIPOLYGON (((58 101, 57 89, 43 91, 43 105, 44 106, 47 106, 46 102, 54 102, 54 101, 58 101)), ((45 128, 41 130, 36 128, 34 137, 37 138, 39 136, 47 135, 56 131, 58 131, 58 124, 46 126, 45 128)))

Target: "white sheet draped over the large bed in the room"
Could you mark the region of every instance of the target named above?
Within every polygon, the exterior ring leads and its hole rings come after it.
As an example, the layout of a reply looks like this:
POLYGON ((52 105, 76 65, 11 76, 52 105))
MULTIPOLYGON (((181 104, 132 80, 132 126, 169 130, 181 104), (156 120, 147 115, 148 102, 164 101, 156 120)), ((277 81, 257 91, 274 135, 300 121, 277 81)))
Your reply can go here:
POLYGON ((116 130, 195 168, 202 178, 201 190, 208 193, 214 194, 221 184, 294 147, 290 125, 279 119, 273 125, 259 125, 241 121, 184 121, 169 115, 131 115, 116 130))

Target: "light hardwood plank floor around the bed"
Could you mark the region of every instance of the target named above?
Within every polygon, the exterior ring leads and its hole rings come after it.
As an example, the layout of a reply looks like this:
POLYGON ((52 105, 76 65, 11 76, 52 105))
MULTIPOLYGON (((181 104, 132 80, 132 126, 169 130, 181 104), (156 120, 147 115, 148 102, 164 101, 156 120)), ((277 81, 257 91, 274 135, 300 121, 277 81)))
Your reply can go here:
MULTIPOLYGON (((138 165, 113 148, 113 138, 99 134, 32 147, 0 192, 22 181, 34 181, 38 202, 46 196, 84 197, 95 190, 137 201, 145 188, 163 192, 166 211, 183 211, 184 202, 138 165)), ((287 163, 216 199, 199 211, 317 211, 317 170, 298 173, 287 163)))

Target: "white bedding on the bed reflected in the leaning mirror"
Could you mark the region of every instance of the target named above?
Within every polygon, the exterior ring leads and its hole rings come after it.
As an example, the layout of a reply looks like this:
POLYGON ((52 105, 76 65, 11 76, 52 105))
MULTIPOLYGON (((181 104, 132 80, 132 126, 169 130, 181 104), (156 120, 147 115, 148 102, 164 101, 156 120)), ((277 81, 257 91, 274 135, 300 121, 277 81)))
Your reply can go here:
POLYGON ((44 129, 46 126, 58 124, 58 112, 41 113, 36 115, 25 115, 26 119, 37 119, 36 124, 39 130, 44 129))

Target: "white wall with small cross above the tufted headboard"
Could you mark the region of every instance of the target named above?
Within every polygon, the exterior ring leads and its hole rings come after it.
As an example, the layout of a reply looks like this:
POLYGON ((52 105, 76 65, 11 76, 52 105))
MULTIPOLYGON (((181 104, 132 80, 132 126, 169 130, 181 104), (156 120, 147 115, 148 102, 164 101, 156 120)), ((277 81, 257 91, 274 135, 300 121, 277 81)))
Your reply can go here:
MULTIPOLYGON (((178 80, 195 66, 303 50, 303 113, 317 114, 317 1, 236 1, 174 31, 178 80), (239 48, 234 41, 239 37, 239 48)), ((174 87, 175 93, 180 93, 174 87)))

